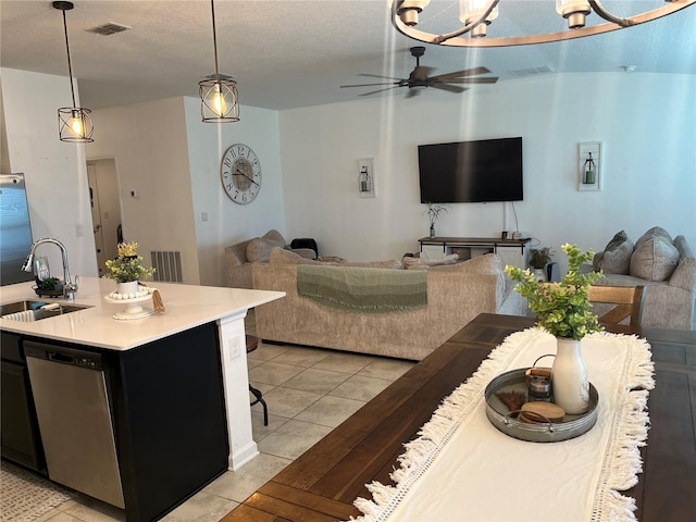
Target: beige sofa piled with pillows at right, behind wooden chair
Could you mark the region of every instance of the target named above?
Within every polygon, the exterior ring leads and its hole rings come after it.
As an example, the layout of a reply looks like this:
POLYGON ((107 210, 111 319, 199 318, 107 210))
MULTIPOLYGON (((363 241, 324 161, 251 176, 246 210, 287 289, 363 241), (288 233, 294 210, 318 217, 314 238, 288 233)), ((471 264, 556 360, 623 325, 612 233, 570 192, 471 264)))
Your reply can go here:
POLYGON ((645 286, 643 326, 693 328, 696 259, 684 236, 672 239, 655 226, 634 244, 621 231, 595 256, 593 269, 605 274, 599 285, 645 286))

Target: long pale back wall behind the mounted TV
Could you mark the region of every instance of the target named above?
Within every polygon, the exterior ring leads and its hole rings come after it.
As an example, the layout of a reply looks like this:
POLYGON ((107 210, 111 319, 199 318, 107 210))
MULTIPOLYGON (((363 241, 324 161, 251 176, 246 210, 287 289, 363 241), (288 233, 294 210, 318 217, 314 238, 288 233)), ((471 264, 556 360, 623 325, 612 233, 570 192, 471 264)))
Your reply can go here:
POLYGON ((500 82, 461 96, 425 91, 281 112, 289 236, 314 237, 320 254, 400 258, 428 233, 418 150, 435 144, 523 137, 524 201, 458 203, 440 236, 529 232, 551 246, 601 250, 625 229, 654 225, 696 247, 696 77, 567 74, 500 82), (577 144, 604 145, 604 189, 577 191, 577 144), (373 157, 377 198, 357 189, 358 158, 373 157))

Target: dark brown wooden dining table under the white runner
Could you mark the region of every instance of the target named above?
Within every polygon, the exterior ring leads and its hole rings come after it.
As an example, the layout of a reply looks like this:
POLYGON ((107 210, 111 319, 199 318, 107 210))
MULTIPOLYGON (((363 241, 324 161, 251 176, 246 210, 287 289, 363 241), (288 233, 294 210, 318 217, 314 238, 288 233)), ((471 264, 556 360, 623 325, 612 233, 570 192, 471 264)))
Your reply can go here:
MULTIPOLYGON (((352 502, 371 498, 365 484, 393 484, 389 473, 399 465, 403 444, 417 438, 440 401, 508 335, 533 324, 531 318, 478 315, 223 521, 333 522, 360 515, 352 502)), ((622 495, 635 499, 639 521, 696 520, 696 332, 607 330, 645 337, 655 363, 643 473, 622 495)))

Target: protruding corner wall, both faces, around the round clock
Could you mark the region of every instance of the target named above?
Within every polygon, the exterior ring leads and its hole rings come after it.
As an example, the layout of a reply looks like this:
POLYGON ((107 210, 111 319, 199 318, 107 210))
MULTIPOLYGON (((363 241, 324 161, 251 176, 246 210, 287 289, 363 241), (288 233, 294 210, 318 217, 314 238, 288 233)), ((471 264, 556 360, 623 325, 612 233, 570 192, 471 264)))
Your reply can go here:
POLYGON ((224 286, 225 246, 285 231, 276 111, 241 107, 238 123, 209 124, 200 100, 184 97, 96 111, 94 121, 100 136, 88 158, 115 159, 124 236, 146 261, 151 250, 181 251, 184 283, 224 286), (246 206, 227 198, 220 178, 220 160, 237 142, 263 169, 261 191, 246 206))

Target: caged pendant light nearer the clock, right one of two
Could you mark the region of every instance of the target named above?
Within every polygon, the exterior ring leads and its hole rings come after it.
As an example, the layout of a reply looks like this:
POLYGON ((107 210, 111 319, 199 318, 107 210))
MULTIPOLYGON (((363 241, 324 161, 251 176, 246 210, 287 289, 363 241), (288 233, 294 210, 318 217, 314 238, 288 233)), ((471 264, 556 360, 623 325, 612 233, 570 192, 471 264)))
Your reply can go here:
POLYGON ((215 74, 199 82, 200 112, 204 123, 228 123, 239 121, 239 97, 237 83, 220 74, 217 67, 217 35, 215 33, 215 2, 210 0, 213 15, 213 48, 215 50, 215 74))

